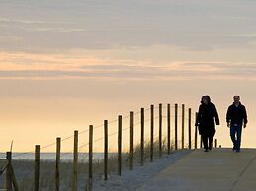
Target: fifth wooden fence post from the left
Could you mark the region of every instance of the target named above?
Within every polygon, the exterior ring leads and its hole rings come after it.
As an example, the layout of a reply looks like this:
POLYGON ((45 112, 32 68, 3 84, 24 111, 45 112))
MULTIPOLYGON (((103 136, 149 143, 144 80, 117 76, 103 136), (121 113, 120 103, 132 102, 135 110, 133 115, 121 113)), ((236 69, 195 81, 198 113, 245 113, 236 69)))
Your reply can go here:
POLYGON ((89 177, 88 191, 93 190, 93 125, 89 126, 89 177))

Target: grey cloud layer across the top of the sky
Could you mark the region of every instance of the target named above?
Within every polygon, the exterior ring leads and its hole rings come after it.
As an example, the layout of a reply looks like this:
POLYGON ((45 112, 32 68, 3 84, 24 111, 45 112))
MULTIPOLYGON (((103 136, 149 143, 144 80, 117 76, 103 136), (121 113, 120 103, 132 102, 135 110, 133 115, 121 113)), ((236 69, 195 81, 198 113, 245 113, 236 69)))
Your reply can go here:
POLYGON ((0 49, 49 52, 153 45, 190 50, 248 47, 255 41, 250 33, 256 30, 255 7, 253 1, 236 0, 14 0, 1 4, 0 36, 22 40, 6 40, 0 49))

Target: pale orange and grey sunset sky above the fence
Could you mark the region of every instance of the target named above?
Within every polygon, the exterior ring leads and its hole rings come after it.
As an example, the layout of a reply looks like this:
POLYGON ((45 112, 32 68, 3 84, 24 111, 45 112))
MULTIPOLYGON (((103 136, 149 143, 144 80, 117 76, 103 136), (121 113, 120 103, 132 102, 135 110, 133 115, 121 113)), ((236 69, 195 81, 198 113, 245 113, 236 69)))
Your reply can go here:
MULTIPOLYGON (((14 151, 31 151, 150 104, 184 103, 195 113, 207 94, 220 115, 219 144, 231 146, 225 113, 239 95, 249 120, 243 146, 256 147, 255 1, 0 5, 1 152, 12 140, 14 151)), ((79 140, 86 144, 86 133, 79 140)), ((63 150, 72 150, 72 140, 63 150)))

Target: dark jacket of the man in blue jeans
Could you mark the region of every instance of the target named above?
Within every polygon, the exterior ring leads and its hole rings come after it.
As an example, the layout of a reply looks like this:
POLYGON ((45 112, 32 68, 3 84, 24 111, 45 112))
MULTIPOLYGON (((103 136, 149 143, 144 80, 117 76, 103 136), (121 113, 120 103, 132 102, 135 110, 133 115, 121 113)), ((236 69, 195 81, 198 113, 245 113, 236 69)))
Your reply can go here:
POLYGON ((246 124, 248 121, 245 106, 241 103, 239 103, 238 107, 234 103, 230 105, 226 113, 226 122, 231 122, 231 125, 242 125, 243 122, 246 124))

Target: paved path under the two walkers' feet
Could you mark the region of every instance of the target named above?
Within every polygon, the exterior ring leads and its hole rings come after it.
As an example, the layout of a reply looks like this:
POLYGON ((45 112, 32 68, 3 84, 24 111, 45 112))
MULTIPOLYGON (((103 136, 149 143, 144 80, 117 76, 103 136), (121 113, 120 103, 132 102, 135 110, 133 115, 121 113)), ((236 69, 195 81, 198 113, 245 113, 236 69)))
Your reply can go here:
POLYGON ((256 150, 195 150, 138 191, 256 191, 256 150))

